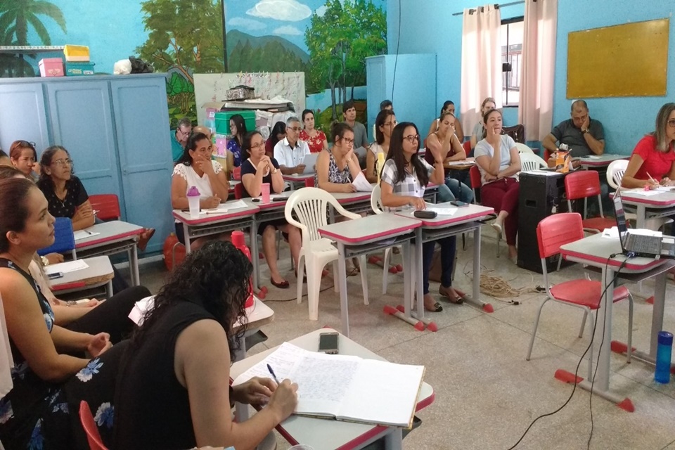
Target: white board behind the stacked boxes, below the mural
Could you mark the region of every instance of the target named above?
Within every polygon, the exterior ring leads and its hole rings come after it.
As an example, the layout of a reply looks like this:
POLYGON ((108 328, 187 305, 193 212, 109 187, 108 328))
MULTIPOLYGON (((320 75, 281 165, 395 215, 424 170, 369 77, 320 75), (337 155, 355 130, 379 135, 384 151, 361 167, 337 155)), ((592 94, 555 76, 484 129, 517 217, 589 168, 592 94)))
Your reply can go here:
POLYGON ((195 73, 199 124, 205 120, 204 103, 225 101, 226 91, 240 84, 255 89, 255 96, 260 98, 281 96, 292 101, 298 115, 304 110, 304 72, 195 73))

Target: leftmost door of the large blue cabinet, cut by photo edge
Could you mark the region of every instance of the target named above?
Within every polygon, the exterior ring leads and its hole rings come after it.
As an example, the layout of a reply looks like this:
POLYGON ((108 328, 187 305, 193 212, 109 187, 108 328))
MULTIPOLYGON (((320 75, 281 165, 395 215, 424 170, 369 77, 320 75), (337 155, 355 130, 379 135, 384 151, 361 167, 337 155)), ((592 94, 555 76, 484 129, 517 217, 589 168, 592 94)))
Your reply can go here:
POLYGON ((18 139, 34 142, 38 158, 49 146, 41 83, 0 84, 0 148, 9 153, 18 139))

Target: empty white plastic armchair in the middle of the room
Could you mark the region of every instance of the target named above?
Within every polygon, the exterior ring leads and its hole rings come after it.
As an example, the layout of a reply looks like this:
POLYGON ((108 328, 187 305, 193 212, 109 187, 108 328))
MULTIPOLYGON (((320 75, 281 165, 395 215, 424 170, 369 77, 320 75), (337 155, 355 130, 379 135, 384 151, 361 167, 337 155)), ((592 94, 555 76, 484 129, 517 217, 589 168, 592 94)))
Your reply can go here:
MULTIPOLYGON (((286 202, 284 214, 286 221, 302 231, 302 248, 297 262, 297 303, 302 303, 302 275, 307 265, 307 297, 309 299, 309 320, 319 320, 319 288, 321 272, 329 262, 333 262, 333 279, 335 292, 338 292, 338 249, 333 241, 322 238, 319 228, 328 224, 328 205, 335 212, 349 219, 361 219, 359 214, 349 212, 338 203, 330 193, 319 188, 302 188, 293 191, 286 202), (295 217, 294 217, 295 214, 295 217), (297 219, 296 219, 297 217, 297 219)), ((361 284, 364 286, 364 304, 368 304, 368 276, 366 274, 366 257, 359 257, 361 262, 361 284)))

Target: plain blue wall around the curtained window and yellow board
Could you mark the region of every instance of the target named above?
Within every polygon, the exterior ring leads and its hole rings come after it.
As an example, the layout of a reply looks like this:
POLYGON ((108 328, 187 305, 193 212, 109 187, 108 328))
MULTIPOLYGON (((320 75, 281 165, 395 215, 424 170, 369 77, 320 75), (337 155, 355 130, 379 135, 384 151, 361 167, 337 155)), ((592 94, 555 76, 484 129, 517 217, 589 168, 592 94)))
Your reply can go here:
MULTIPOLYGON (((498 1, 505 4, 510 1, 498 1)), ((461 93, 462 16, 452 15, 481 4, 476 0, 389 0, 387 4, 387 44, 390 54, 437 53, 437 110, 443 101, 452 100, 457 105, 461 93), (399 39, 399 1, 402 8, 399 39)), ((583 3, 558 0, 558 37, 555 49, 555 84, 553 92, 553 124, 570 117, 567 98, 567 34, 590 28, 622 25, 671 18, 675 11, 672 0, 595 0, 583 3)), ((502 18, 525 14, 525 5, 502 8, 502 18)), ((667 86, 675 85, 675 24, 671 20, 668 52, 667 86)), ((672 90, 666 96, 589 98, 591 117, 603 122, 605 151, 630 154, 641 137, 654 129, 659 108, 668 101, 675 101, 672 90)), ((518 122, 518 110, 506 108, 504 122, 518 122)))

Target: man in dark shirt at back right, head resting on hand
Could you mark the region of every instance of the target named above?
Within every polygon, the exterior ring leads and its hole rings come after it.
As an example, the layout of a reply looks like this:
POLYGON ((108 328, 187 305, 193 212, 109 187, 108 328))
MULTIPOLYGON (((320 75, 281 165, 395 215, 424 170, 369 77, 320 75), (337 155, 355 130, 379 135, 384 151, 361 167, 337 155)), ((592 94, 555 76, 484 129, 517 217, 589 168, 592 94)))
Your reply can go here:
POLYGON ((560 122, 541 142, 551 153, 558 150, 558 143, 570 147, 572 158, 602 155, 605 151, 605 133, 599 120, 591 119, 589 107, 583 100, 572 102, 571 119, 560 122))

